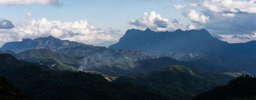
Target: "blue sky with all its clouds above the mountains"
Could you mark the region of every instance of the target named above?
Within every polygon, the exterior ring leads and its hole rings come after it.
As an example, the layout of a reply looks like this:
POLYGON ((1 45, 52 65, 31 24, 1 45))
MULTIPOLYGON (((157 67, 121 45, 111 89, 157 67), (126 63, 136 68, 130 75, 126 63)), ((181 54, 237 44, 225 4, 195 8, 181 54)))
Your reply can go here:
POLYGON ((53 36, 118 42, 129 29, 206 29, 230 43, 256 40, 256 0, 0 0, 0 47, 53 36))

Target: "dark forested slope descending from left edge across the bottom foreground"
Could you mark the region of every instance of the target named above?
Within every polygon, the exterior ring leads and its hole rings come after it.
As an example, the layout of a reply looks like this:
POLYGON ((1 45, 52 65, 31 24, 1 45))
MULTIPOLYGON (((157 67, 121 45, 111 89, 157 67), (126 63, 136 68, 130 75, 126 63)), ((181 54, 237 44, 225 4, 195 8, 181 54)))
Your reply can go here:
POLYGON ((42 67, 0 54, 0 75, 34 100, 171 100, 132 84, 108 82, 102 75, 42 67))

